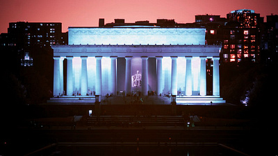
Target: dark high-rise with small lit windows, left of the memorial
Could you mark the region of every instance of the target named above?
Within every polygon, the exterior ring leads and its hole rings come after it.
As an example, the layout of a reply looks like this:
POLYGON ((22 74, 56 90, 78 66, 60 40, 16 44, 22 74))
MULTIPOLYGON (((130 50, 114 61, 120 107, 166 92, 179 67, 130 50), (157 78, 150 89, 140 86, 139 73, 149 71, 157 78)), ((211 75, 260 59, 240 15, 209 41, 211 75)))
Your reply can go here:
POLYGON ((0 48, 17 57, 21 66, 33 66, 33 58, 42 49, 51 49, 52 45, 67 44, 67 33, 62 33, 61 23, 11 22, 8 33, 2 33, 0 48))

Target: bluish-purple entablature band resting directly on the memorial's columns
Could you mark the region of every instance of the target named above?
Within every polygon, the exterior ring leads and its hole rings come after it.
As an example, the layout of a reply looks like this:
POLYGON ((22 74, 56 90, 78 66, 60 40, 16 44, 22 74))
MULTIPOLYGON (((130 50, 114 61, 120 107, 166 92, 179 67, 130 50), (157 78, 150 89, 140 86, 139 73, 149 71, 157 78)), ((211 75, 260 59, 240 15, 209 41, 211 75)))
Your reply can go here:
POLYGON ((148 57, 170 57, 178 56, 184 57, 185 55, 191 55, 193 57, 207 56, 212 58, 213 56, 219 56, 222 46, 218 45, 58 45, 51 46, 54 49, 54 56, 58 55, 65 57, 72 55, 79 57, 81 55, 87 55, 89 57, 95 57, 101 55, 103 57, 110 57, 115 55, 117 57, 125 57, 126 55, 132 55, 134 57, 140 57, 142 55, 148 57))

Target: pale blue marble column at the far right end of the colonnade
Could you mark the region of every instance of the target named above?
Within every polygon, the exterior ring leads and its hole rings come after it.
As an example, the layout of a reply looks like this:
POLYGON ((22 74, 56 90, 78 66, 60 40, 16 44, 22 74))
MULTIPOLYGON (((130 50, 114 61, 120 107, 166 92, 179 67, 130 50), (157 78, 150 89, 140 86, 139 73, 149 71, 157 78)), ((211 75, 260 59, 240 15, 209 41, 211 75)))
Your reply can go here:
POLYGON ((213 96, 220 96, 219 56, 213 56, 213 96))

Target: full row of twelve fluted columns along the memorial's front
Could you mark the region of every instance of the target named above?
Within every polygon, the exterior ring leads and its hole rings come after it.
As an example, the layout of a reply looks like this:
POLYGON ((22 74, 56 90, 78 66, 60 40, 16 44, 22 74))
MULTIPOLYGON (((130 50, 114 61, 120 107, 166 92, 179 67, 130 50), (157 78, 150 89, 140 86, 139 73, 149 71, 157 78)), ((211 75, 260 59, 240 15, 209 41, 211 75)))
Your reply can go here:
MULTIPOLYGON (((73 56, 67 56, 67 95, 73 93, 73 56)), ((87 73, 87 58, 81 56, 81 95, 86 95, 88 92, 88 73, 87 73)), ((96 58, 96 95, 101 95, 101 58, 96 58)), ((116 59, 117 56, 111 56, 111 93, 116 94, 116 59)), ((156 72, 157 72, 157 91, 158 95, 163 92, 163 71, 162 71, 162 56, 156 57, 156 72)), ((171 73, 171 92, 172 95, 177 95, 177 56, 171 56, 172 73, 171 73)), ((186 56, 186 96, 192 95, 192 56, 186 56)), ((206 95, 206 56, 200 56, 200 91, 201 96, 206 95)), ((125 92, 131 94, 131 59, 132 56, 126 56, 126 73, 125 73, 125 92)), ((148 63, 147 56, 142 56, 142 95, 146 96, 148 92, 148 63)), ((213 95, 220 95, 220 80, 219 80, 219 57, 213 57, 213 95)), ((54 96, 63 93, 63 60, 60 56, 54 56, 54 96), (62 64, 62 67, 61 67, 62 64)))

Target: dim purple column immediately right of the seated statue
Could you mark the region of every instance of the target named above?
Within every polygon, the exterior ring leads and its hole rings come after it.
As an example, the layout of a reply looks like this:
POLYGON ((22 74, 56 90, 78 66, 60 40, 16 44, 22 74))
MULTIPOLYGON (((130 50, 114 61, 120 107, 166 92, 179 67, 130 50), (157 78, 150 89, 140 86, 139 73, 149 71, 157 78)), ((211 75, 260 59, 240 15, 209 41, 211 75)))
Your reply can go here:
POLYGON ((142 56, 142 96, 147 96, 147 92, 148 92, 148 64, 147 64, 147 60, 148 57, 147 56, 142 56))

